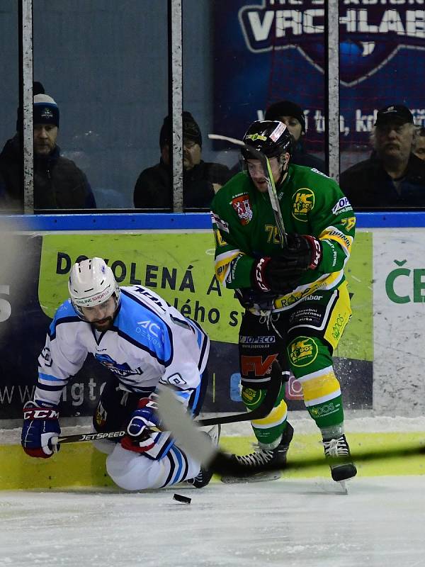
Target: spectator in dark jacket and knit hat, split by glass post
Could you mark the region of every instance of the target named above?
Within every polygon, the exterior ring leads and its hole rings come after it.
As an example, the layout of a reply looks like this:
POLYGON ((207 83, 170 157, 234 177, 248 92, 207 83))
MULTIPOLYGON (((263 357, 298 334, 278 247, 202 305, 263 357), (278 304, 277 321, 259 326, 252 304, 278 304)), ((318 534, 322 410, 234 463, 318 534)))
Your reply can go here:
MULTIPOLYGON (((173 183, 170 167, 171 121, 164 118, 159 134, 159 164, 144 169, 134 192, 135 208, 173 208, 173 183)), ((231 177, 227 166, 201 159, 202 135, 193 116, 183 112, 183 206, 185 210, 210 209, 214 194, 231 177)))

